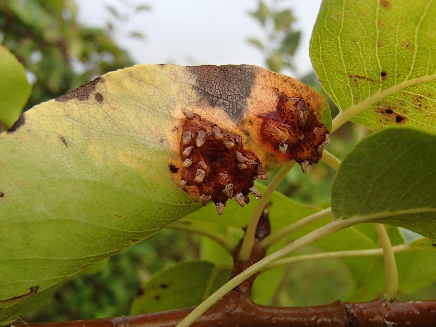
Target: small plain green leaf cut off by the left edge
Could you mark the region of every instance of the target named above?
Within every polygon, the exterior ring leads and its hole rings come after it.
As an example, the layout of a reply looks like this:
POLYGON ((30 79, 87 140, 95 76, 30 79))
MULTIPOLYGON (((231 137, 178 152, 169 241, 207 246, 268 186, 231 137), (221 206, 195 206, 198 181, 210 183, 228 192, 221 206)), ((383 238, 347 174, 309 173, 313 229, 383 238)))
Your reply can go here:
POLYGON ((23 65, 0 45, 0 122, 12 126, 23 111, 30 92, 31 85, 23 65))

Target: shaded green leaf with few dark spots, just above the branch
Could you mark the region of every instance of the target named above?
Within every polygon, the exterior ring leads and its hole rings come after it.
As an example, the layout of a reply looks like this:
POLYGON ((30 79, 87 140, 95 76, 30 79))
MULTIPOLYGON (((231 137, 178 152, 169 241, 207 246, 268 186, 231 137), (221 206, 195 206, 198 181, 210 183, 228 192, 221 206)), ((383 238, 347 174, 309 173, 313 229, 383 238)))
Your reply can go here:
POLYGON ((194 260, 177 263, 154 274, 133 301, 131 314, 194 307, 229 279, 231 264, 194 260))

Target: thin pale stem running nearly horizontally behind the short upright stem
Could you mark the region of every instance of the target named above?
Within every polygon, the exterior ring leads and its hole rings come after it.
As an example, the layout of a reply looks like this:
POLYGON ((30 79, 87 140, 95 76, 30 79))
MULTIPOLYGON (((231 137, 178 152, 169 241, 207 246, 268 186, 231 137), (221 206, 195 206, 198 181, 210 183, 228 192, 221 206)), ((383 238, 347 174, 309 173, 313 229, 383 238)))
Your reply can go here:
MULTIPOLYGON (((407 244, 395 245, 392 247, 394 253, 405 252, 410 250, 419 250, 419 247, 411 247, 407 244)), ((312 254, 304 254, 304 255, 294 255, 289 258, 284 258, 272 262, 265 268, 263 268, 260 272, 264 272, 266 270, 276 268, 282 265, 289 265, 290 263, 306 261, 306 260, 314 260, 314 259, 325 259, 325 258, 341 258, 341 257, 354 257, 354 256, 372 256, 372 255, 382 255, 383 249, 365 249, 365 250, 349 250, 349 251, 332 251, 332 252, 320 252, 320 253, 312 253, 312 254)))

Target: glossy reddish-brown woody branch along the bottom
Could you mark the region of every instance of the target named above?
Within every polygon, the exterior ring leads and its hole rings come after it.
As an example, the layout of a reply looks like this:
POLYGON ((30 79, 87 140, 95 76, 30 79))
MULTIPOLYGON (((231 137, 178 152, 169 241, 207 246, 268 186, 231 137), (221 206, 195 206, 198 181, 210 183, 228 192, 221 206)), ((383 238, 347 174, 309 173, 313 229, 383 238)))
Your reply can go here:
MULTIPOLYGON (((137 316, 28 324, 27 327, 174 327, 194 308, 137 316)), ((269 307, 232 290, 192 327, 434 327, 436 300, 364 303, 336 301, 317 307, 269 307)))

